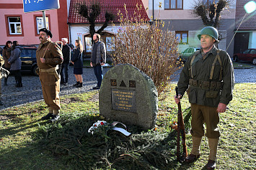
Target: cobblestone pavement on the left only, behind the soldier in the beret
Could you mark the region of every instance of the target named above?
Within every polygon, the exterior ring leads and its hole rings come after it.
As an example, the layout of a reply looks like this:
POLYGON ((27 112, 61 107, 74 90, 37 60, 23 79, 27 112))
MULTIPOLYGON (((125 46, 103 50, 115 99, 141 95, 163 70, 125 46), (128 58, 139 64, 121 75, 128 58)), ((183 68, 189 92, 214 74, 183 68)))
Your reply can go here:
MULTIPOLYGON (((105 74, 110 68, 103 68, 105 74)), ((60 95, 70 95, 74 93, 84 93, 92 90, 92 87, 97 85, 97 79, 94 75, 93 68, 84 68, 83 87, 75 88, 76 78, 73 74, 73 67, 69 67, 69 84, 61 85, 60 95)), ((7 86, 4 86, 4 79, 1 80, 1 101, 4 105, 0 105, 0 110, 9 108, 15 105, 43 100, 42 86, 39 77, 30 73, 22 72, 22 88, 15 87, 14 76, 8 78, 7 86)))

